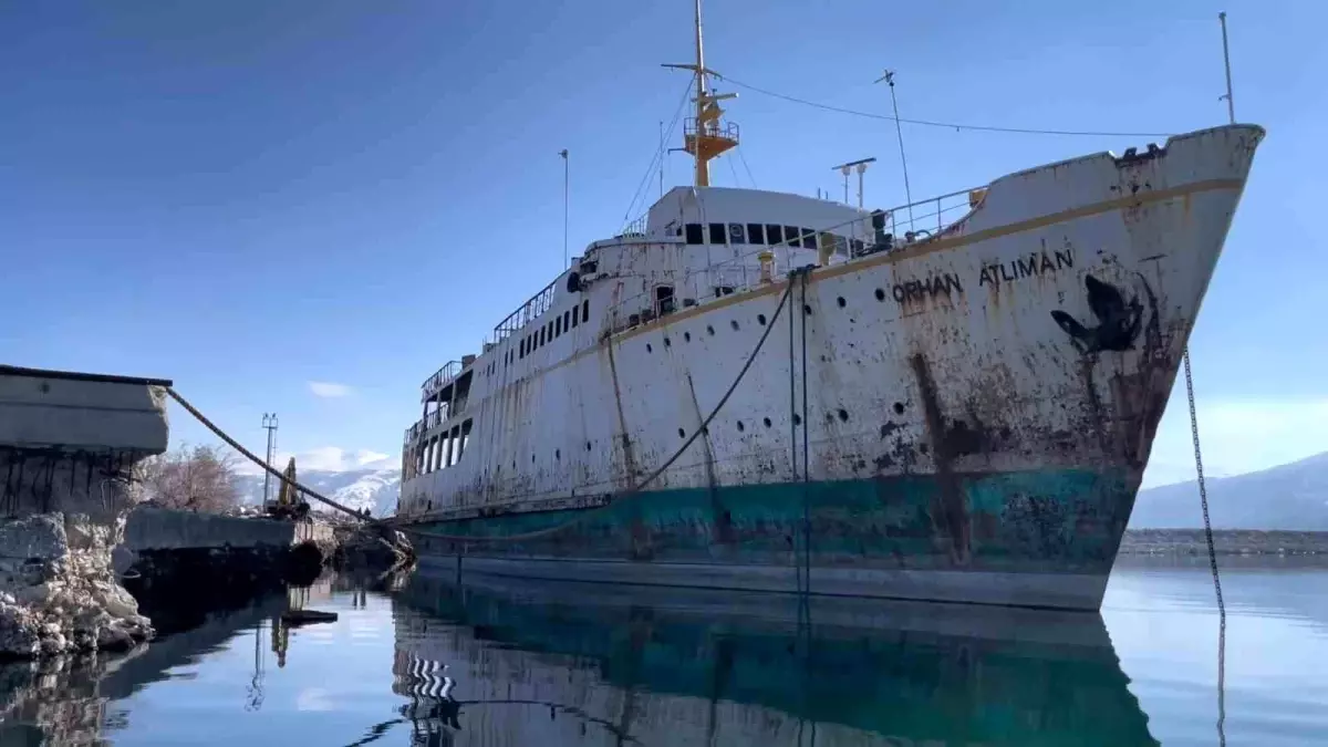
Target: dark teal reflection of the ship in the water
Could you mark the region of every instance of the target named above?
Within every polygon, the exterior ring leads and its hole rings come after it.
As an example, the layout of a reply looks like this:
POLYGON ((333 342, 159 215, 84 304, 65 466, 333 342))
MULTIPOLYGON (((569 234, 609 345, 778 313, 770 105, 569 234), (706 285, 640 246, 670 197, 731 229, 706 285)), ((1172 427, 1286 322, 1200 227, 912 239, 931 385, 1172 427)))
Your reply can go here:
POLYGON ((420 746, 1157 744, 1098 614, 416 576, 393 618, 420 746))

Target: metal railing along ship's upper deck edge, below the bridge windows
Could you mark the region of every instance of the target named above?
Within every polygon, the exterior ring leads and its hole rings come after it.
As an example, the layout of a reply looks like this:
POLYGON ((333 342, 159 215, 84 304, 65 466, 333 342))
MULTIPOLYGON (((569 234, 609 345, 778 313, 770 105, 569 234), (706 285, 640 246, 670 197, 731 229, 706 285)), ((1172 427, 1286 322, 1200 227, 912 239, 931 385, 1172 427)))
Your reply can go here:
MULTIPOLYGON (((872 215, 862 215, 834 226, 821 226, 817 233, 834 239, 831 263, 849 262, 857 257, 895 251, 944 235, 963 223, 985 195, 985 187, 952 191, 890 210, 874 211, 872 215), (839 241, 842 237, 831 234, 831 231, 843 233, 846 229, 854 235, 867 237, 866 241, 851 242, 849 253, 843 251, 845 247, 839 241)), ((790 271, 818 261, 818 251, 806 249, 803 238, 799 235, 770 246, 753 246, 732 259, 688 270, 673 295, 664 303, 656 295, 655 287, 620 298, 610 310, 612 328, 627 330, 681 308, 758 287, 764 284, 761 255, 765 253, 774 255, 770 279, 781 280, 790 271)), ((819 235, 817 241, 819 243, 819 235)))

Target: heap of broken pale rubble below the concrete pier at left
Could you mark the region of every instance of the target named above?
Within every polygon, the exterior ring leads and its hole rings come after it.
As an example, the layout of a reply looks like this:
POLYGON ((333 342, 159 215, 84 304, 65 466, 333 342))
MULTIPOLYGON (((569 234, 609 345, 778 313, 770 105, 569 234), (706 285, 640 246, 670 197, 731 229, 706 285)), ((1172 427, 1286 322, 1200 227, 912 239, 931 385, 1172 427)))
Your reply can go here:
POLYGON ((65 513, 0 522, 0 657, 126 649, 153 635, 112 572, 124 526, 65 513))

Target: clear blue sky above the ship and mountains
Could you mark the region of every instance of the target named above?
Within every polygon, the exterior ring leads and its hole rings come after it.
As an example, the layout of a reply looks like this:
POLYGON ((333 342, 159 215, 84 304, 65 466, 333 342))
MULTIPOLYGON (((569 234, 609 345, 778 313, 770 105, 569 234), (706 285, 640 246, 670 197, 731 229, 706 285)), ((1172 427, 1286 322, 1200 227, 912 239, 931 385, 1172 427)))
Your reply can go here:
MULTIPOLYGON (((1208 467, 1235 473, 1328 449, 1321 5, 710 0, 706 62, 869 112, 888 110, 872 80, 890 66, 906 117, 1186 132, 1226 120, 1222 9, 1238 118, 1270 132, 1193 339, 1208 467)), ((643 211, 632 195, 687 84, 660 62, 688 61, 691 13, 0 0, 0 360, 171 377, 251 444, 278 411, 283 451, 396 459, 420 381, 559 271, 558 150, 574 254, 643 211)), ((876 156, 867 202, 903 202, 890 122, 736 90, 752 177, 720 160, 716 183, 838 194, 830 166, 876 156)), ((1147 141, 904 140, 918 197, 1147 141)), ((672 156, 668 182, 687 169, 672 156)), ((1178 393, 1154 482, 1191 475, 1178 393)), ((207 435, 175 409, 173 439, 207 435)))

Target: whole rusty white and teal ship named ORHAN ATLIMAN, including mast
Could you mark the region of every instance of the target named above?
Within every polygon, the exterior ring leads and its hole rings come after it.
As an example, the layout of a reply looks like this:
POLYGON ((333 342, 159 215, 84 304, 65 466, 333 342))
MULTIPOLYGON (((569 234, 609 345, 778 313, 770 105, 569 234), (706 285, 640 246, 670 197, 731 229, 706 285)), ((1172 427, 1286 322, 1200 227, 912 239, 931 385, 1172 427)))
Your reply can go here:
POLYGON ((890 210, 691 185, 421 387, 396 525, 458 573, 1097 610, 1264 137, 890 210))

